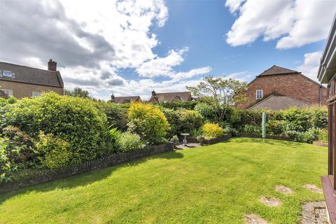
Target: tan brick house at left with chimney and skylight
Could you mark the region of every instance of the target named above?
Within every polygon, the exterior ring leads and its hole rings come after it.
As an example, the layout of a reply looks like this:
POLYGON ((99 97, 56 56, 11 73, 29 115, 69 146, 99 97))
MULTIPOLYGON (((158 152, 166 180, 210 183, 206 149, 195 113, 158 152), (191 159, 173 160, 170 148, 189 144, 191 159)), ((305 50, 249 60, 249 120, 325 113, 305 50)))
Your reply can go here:
POLYGON ((16 98, 38 97, 50 91, 64 94, 62 76, 52 59, 48 62, 48 70, 0 62, 0 89, 16 98))

